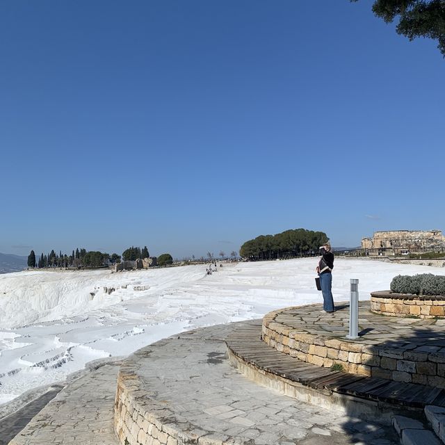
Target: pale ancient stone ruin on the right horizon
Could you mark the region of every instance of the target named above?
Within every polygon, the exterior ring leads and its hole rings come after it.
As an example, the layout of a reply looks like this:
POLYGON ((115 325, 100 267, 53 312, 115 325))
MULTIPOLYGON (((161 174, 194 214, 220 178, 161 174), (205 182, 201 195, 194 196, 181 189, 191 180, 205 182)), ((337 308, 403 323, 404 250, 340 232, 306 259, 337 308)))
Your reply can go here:
POLYGON ((441 230, 391 230, 374 232, 372 238, 362 238, 362 249, 394 249, 412 252, 442 250, 445 248, 445 236, 441 230))

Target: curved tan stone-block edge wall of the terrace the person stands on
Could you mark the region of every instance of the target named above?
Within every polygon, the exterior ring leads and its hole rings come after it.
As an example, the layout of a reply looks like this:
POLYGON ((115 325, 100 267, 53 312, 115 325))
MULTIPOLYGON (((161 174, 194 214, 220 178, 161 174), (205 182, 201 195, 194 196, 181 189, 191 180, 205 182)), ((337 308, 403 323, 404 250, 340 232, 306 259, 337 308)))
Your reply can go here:
POLYGON ((369 345, 312 334, 304 326, 296 328, 276 321, 277 316, 293 309, 298 307, 270 312, 263 319, 261 338, 281 353, 317 366, 339 364, 348 373, 445 388, 445 351, 369 345))

